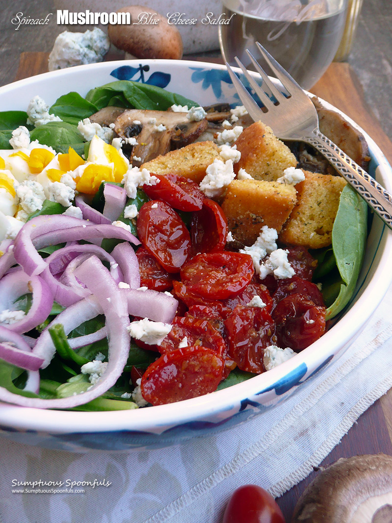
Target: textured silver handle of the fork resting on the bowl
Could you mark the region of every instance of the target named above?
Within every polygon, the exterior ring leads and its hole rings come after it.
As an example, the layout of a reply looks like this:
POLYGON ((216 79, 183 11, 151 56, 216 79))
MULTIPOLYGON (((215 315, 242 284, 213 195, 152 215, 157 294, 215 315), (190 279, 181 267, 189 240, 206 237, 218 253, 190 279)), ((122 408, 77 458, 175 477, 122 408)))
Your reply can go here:
POLYGON ((312 134, 303 138, 304 142, 313 145, 337 169, 339 174, 348 181, 374 212, 392 229, 392 196, 382 185, 366 173, 347 154, 315 129, 312 134))

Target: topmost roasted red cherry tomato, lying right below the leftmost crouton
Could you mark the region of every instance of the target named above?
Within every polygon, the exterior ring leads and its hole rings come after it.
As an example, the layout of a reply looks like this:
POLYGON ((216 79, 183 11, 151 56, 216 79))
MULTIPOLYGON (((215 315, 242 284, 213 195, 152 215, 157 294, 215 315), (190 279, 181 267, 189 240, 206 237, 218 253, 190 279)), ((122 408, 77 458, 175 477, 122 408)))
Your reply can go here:
POLYGON ((172 173, 154 176, 160 180, 158 184, 142 185, 147 196, 166 201, 179 211, 198 211, 202 208, 205 196, 195 181, 172 173))

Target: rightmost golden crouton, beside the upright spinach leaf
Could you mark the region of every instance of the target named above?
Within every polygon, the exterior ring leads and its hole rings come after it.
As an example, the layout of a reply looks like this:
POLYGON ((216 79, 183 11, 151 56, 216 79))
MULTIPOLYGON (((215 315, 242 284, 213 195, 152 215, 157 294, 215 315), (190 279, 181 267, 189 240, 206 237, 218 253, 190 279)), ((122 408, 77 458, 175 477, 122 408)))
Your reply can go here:
POLYGON ((332 242, 332 226, 346 182, 340 176, 304 171, 297 184, 297 203, 279 234, 285 244, 318 249, 332 242))

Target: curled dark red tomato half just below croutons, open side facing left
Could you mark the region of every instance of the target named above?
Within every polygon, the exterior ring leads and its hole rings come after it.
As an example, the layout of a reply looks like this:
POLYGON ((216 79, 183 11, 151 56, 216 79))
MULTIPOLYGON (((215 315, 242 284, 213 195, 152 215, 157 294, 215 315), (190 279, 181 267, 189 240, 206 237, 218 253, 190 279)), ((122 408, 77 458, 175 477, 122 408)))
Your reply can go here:
POLYGON ((192 252, 197 254, 223 251, 227 229, 227 219, 222 207, 206 198, 202 209, 192 214, 192 252))

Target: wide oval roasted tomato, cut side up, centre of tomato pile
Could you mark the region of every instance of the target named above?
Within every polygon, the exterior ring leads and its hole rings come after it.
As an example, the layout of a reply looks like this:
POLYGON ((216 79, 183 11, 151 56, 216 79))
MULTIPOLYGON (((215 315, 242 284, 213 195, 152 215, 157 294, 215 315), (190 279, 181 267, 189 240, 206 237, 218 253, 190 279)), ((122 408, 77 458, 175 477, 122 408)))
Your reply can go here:
POLYGON ((191 258, 180 271, 189 292, 210 300, 222 300, 241 292, 253 276, 248 254, 206 253, 191 258))

